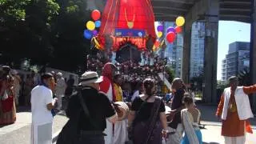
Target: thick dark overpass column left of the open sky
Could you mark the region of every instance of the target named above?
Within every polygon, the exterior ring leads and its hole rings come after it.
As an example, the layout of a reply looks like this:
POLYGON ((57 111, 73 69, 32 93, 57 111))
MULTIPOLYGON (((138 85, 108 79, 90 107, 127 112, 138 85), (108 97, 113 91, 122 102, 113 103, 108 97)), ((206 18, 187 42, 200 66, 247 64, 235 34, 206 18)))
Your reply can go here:
POLYGON ((216 102, 218 57, 218 1, 210 0, 206 12, 203 100, 216 102))

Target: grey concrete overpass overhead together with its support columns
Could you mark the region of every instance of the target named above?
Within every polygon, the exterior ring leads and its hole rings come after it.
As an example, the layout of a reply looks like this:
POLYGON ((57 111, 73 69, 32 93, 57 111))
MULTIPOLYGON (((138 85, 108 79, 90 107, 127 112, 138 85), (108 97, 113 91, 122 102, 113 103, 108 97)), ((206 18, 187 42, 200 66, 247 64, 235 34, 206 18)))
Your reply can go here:
MULTIPOLYGON (((106 0, 91 0, 90 7, 102 10, 106 0)), ((216 102, 217 57, 218 57, 218 21, 238 21, 251 24, 250 75, 256 83, 256 0, 151 0, 156 21, 174 21, 182 15, 186 18, 184 26, 184 47, 182 78, 189 82, 190 43, 193 22, 205 22, 205 90, 204 100, 216 102)), ((93 8, 93 9, 94 9, 93 8)), ((256 95, 253 98, 256 111, 256 95)))

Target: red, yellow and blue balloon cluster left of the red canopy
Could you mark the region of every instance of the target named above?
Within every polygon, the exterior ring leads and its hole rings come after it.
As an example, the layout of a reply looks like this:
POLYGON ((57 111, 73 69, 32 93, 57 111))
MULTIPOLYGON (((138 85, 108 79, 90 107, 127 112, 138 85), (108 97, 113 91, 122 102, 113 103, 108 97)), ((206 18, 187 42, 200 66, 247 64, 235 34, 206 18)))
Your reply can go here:
POLYGON ((98 30, 95 30, 95 28, 99 28, 102 25, 102 22, 99 20, 99 18, 101 18, 101 12, 99 10, 93 10, 91 12, 91 18, 93 18, 94 21, 86 22, 87 29, 83 32, 83 36, 86 39, 91 39, 98 35, 98 30))

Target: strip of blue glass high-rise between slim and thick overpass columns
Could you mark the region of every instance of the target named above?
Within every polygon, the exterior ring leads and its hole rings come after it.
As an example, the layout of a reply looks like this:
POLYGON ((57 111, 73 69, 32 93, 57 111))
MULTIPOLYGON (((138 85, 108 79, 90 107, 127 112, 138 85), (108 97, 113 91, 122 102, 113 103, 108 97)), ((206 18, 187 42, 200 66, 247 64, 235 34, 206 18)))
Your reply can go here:
POLYGON ((191 30, 190 78, 197 77, 203 72, 204 38, 205 24, 203 22, 194 22, 191 30))

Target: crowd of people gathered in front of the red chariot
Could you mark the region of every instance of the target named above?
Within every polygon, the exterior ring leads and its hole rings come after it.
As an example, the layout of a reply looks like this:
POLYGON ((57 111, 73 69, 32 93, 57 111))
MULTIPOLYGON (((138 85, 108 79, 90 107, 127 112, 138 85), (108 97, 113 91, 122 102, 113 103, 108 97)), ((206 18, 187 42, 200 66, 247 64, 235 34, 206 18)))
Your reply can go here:
MULTIPOLYGON (((158 97, 157 83, 150 77, 132 85, 134 91, 130 93, 125 74, 119 70, 122 69, 107 62, 100 77, 95 71, 86 71, 75 89, 74 80, 66 82, 61 73, 41 74, 40 82, 30 93, 31 142, 51 143, 54 109, 65 107, 59 100, 69 95, 65 108, 69 121, 57 144, 202 144, 201 113, 182 78, 174 78, 168 99, 158 97)), ((10 124, 16 120, 18 88, 14 78, 20 78, 9 66, 2 66, 0 71, 0 122, 10 124)), ((256 85, 238 86, 237 77, 231 77, 229 83, 216 116, 222 119, 225 143, 242 144, 246 142, 246 132, 252 132, 248 118, 254 115, 247 94, 255 93, 256 85)))

